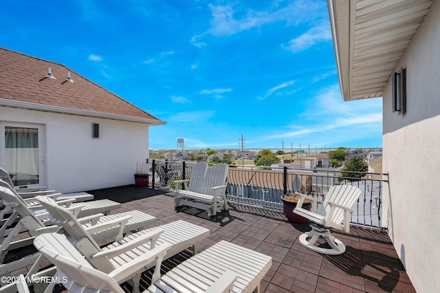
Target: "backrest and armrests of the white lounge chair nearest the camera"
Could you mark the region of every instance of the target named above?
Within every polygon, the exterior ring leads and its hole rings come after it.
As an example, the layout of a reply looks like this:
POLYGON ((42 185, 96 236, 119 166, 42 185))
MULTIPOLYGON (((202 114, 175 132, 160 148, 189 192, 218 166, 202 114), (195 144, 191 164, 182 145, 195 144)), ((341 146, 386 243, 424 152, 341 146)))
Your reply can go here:
POLYGON ((114 264, 113 257, 135 250, 137 246, 142 246, 142 243, 146 241, 153 244, 161 232, 161 229, 156 229, 151 235, 144 235, 142 241, 137 239, 115 250, 92 252, 91 257, 107 260, 108 266, 104 271, 94 268, 94 265, 76 250, 65 235, 56 233, 39 235, 34 241, 34 246, 45 258, 56 265, 54 279, 59 279, 69 292, 124 292, 118 284, 124 283, 133 276, 140 277, 148 266, 155 265, 155 275, 160 276, 160 265, 170 244, 164 243, 156 246, 136 258, 131 258, 123 265, 114 264))

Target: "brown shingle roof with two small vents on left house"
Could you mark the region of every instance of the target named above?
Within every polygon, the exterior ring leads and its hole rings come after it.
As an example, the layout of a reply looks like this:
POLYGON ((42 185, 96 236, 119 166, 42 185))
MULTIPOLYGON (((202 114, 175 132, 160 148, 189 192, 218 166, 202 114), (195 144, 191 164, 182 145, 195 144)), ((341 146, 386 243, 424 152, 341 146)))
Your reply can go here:
POLYGON ((115 119, 135 118, 139 122, 164 124, 65 65, 0 47, 0 105, 7 100, 30 102, 32 104, 24 103, 30 109, 41 105, 54 106, 48 109, 56 111, 61 107, 59 109, 79 110, 80 115, 102 113, 111 114, 115 119), (45 77, 48 68, 52 69, 55 78, 45 77), (66 81, 68 72, 73 83, 66 81))

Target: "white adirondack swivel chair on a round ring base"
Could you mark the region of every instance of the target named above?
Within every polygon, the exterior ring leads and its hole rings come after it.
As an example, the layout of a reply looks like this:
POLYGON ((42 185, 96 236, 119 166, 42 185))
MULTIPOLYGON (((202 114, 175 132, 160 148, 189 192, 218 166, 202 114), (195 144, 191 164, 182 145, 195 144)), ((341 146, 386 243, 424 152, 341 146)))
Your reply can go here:
POLYGON ((294 213, 313 221, 310 232, 300 235, 299 240, 303 246, 322 254, 342 254, 346 247, 344 243, 331 235, 330 228, 350 232, 350 214, 353 205, 362 195, 362 191, 352 185, 331 186, 322 201, 315 197, 300 194, 300 200, 294 208, 294 213), (311 210, 302 208, 304 199, 311 199, 311 210), (321 205, 318 209, 318 203, 321 205), (316 245, 319 237, 325 238, 331 248, 322 248, 316 245))

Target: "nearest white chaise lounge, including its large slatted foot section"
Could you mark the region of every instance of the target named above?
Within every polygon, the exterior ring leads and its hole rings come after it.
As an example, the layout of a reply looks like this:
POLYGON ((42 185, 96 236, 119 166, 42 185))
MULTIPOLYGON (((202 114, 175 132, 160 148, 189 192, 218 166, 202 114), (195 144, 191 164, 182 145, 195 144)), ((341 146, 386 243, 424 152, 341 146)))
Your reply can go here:
MULTIPOLYGON (((59 235, 40 235, 34 245, 56 265, 69 291, 124 292, 119 284, 122 274, 131 270, 128 263, 107 273, 96 270, 80 254, 72 253, 69 241, 59 235)), ((265 254, 220 241, 160 277, 165 249, 162 244, 142 256, 141 261, 150 262, 150 267, 155 260, 153 284, 146 292, 259 292, 261 279, 272 265, 272 258, 265 254)))

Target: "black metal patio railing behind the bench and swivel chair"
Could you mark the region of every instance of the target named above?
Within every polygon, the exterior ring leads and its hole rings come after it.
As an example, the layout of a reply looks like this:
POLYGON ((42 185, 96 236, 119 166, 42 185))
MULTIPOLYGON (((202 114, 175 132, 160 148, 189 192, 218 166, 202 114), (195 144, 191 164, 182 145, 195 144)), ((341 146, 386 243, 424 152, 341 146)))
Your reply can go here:
MULTIPOLYGON (((175 180, 189 179, 195 162, 168 162, 147 160, 151 171, 151 187, 174 188, 175 180)), ((355 204, 351 216, 353 224, 382 228, 382 188, 388 184, 388 175, 344 171, 323 171, 309 169, 267 169, 259 166, 230 165, 226 189, 228 200, 265 208, 283 210, 281 196, 294 191, 294 177, 298 175, 301 192, 323 197, 333 185, 351 184, 358 186, 362 197, 355 204)))

